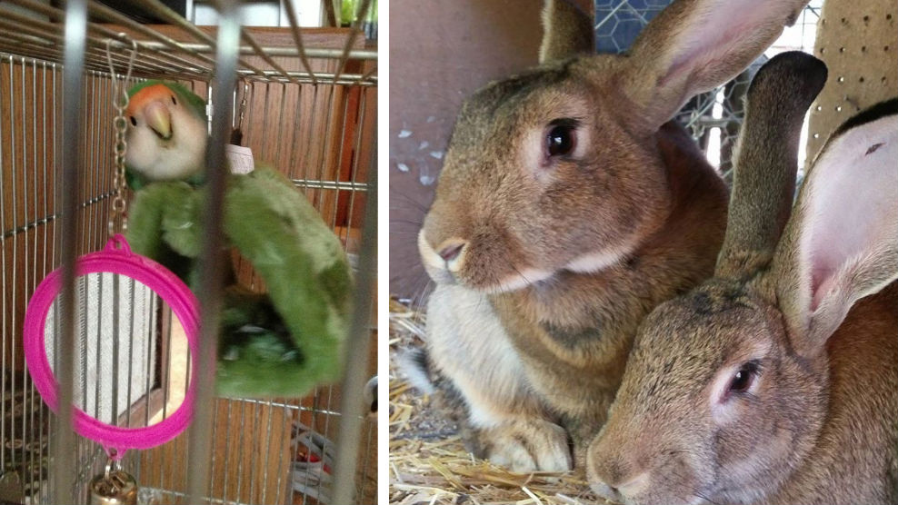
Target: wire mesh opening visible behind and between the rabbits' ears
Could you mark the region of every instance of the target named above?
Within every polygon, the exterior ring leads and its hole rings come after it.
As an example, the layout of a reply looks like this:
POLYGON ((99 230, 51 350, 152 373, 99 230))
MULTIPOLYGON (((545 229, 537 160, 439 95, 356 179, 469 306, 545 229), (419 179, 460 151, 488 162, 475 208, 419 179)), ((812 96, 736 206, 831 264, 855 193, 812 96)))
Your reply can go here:
MULTIPOLYGON (((595 45, 600 53, 623 53, 639 32, 670 0, 596 0, 595 45)), ((744 97, 754 74, 770 57, 784 51, 813 53, 813 41, 823 0, 811 0, 791 27, 756 61, 732 81, 717 89, 693 96, 674 116, 717 167, 727 183, 732 183, 733 146, 744 115, 744 97)), ((714 30, 719 27, 708 26, 714 30)), ((805 157, 807 123, 802 131, 799 166, 805 157)))

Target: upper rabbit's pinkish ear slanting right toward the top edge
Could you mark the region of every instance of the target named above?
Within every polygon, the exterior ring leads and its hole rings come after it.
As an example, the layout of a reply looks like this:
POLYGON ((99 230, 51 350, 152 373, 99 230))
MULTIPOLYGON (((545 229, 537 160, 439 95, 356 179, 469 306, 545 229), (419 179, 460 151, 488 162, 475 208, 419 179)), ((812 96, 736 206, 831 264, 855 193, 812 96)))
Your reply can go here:
POLYGON ((651 131, 743 71, 808 0, 676 0, 634 42, 621 88, 651 131))

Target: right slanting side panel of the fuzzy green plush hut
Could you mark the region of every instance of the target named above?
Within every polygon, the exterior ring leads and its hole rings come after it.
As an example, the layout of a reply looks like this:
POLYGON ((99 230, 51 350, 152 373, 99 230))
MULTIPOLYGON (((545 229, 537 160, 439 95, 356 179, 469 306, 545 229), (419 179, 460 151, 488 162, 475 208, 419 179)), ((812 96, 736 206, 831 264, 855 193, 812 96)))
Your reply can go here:
MULTIPOLYGON (((290 379, 294 391, 337 379, 352 292, 339 239, 280 173, 256 168, 230 182, 225 233, 264 279, 294 345, 309 356, 304 372, 290 379)), ((229 379, 220 374, 221 389, 229 379)))

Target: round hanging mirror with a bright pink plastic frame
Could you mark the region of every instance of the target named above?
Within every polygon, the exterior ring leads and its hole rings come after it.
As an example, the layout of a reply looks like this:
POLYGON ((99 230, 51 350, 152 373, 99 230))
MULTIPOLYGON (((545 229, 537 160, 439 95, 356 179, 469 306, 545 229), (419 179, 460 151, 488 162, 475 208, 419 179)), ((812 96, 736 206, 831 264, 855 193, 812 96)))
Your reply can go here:
POLYGON ((50 272, 25 312, 25 363, 56 411, 54 371, 75 365, 75 432, 118 451, 147 449, 184 431, 193 414, 198 304, 162 265, 115 235, 75 262, 74 349, 64 351, 62 271, 50 272), (51 364, 52 363, 52 364, 51 364))

